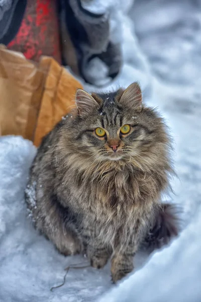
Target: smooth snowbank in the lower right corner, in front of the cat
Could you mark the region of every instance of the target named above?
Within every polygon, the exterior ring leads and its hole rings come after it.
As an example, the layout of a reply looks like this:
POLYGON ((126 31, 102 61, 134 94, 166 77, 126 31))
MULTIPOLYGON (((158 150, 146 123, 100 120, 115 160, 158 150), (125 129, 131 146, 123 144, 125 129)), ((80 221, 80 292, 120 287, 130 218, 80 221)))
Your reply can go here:
POLYGON ((99 302, 200 301, 200 217, 199 206, 193 222, 171 247, 155 253, 143 269, 104 295, 99 302))

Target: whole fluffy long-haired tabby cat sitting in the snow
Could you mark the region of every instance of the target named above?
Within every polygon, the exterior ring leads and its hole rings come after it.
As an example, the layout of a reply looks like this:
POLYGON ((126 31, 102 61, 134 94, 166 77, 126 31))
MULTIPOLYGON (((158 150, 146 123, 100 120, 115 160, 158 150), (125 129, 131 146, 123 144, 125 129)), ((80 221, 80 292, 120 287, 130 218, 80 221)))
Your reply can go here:
POLYGON ((64 255, 86 253, 95 268, 111 257, 116 282, 143 241, 177 234, 174 208, 160 203, 170 140, 137 83, 107 94, 79 89, 75 100, 38 149, 26 201, 36 228, 64 255))

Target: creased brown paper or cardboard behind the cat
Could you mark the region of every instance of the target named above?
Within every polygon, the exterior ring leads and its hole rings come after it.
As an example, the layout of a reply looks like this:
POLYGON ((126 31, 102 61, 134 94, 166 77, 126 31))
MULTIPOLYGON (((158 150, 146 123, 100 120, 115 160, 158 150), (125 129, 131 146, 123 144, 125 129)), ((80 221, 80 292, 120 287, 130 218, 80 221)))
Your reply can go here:
POLYGON ((82 88, 51 57, 38 64, 0 45, 0 134, 22 135, 38 146, 73 105, 82 88))

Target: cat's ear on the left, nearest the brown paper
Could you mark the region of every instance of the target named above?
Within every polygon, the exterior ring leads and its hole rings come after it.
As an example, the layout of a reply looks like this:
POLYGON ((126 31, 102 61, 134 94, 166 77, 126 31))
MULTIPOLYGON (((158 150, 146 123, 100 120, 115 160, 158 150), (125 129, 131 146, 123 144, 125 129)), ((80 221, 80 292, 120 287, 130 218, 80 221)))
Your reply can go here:
POLYGON ((75 95, 75 103, 79 115, 86 115, 91 112, 91 109, 97 108, 98 103, 94 98, 82 89, 78 89, 75 95))

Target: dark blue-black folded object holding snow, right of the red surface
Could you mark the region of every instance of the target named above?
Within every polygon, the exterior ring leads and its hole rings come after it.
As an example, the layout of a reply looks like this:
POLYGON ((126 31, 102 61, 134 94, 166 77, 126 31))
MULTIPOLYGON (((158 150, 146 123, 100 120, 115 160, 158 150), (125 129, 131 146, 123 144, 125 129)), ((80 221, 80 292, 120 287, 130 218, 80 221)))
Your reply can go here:
POLYGON ((96 86, 111 82, 122 65, 121 44, 112 37, 104 7, 105 0, 63 0, 60 7, 64 63, 96 86))

